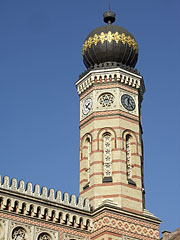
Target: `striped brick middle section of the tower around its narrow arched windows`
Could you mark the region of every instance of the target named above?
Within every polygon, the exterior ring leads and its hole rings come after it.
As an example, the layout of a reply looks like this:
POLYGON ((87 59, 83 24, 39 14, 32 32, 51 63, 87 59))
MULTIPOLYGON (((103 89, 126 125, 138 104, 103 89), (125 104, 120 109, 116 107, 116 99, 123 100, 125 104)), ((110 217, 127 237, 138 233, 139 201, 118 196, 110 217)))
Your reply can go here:
POLYGON ((113 199, 122 208, 142 211, 142 175, 141 175, 141 138, 138 134, 139 125, 137 122, 128 122, 120 116, 101 117, 92 120, 85 127, 81 128, 82 147, 80 159, 80 194, 90 199, 92 206, 98 206, 106 198, 113 199), (129 125, 129 127, 127 126, 129 125), (96 126, 96 128, 94 128, 96 126), (112 127, 113 126, 113 127, 112 127), (121 127, 119 127, 121 126, 121 127), (93 129, 93 130, 92 130, 93 129), (131 131, 129 131, 131 129, 131 131), (103 183, 103 149, 102 135, 105 132, 112 133, 112 182, 103 183), (132 179, 136 186, 130 185, 126 177, 126 150, 124 149, 125 135, 130 132, 134 136, 132 142, 133 175, 132 179), (86 171, 87 158, 83 152, 83 140, 89 133, 92 136, 91 161, 90 161, 90 185, 83 190, 87 179, 86 171))

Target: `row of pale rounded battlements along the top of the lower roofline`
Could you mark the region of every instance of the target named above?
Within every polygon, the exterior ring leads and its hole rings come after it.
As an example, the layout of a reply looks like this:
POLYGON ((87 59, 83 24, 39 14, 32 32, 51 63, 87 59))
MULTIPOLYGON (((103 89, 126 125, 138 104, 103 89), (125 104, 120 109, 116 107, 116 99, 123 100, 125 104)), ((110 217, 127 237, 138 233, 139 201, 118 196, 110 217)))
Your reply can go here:
POLYGON ((82 197, 76 197, 75 195, 69 196, 67 192, 61 193, 61 191, 54 191, 54 189, 47 189, 46 187, 40 188, 38 184, 32 185, 31 182, 25 184, 23 180, 17 181, 16 178, 9 179, 8 176, 3 177, 1 181, 0 175, 0 189, 8 190, 13 193, 22 194, 24 196, 33 197, 35 199, 42 199, 48 202, 54 202, 69 207, 81 209, 90 212, 89 199, 83 199, 82 197))

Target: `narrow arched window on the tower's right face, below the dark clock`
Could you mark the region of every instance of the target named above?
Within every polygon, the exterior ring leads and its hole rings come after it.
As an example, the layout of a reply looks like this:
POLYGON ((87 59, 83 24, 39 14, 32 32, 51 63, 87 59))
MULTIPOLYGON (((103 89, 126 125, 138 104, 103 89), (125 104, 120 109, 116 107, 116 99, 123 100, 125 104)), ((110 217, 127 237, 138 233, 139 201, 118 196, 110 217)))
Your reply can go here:
POLYGON ((136 185, 132 180, 132 136, 126 135, 126 174, 128 183, 136 185))

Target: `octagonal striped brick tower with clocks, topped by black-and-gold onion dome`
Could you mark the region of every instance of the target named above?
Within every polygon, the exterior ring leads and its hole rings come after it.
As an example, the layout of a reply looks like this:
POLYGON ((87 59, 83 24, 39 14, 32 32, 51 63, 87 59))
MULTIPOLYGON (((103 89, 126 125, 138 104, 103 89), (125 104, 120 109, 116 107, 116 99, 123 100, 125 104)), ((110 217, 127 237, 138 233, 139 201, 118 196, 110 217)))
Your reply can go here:
POLYGON ((141 103, 144 81, 134 69, 138 44, 123 27, 93 30, 83 44, 87 70, 76 83, 80 96, 80 195, 94 209, 112 202, 142 213, 144 201, 141 103))

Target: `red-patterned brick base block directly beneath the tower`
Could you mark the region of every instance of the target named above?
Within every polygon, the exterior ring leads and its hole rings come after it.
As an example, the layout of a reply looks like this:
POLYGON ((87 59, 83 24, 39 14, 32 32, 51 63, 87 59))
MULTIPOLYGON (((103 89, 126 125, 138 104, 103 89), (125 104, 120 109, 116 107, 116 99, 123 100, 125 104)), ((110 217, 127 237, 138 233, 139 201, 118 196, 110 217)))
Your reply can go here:
POLYGON ((159 239, 157 218, 135 215, 103 207, 94 217, 92 239, 97 240, 156 240, 159 239))

